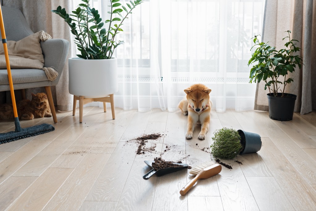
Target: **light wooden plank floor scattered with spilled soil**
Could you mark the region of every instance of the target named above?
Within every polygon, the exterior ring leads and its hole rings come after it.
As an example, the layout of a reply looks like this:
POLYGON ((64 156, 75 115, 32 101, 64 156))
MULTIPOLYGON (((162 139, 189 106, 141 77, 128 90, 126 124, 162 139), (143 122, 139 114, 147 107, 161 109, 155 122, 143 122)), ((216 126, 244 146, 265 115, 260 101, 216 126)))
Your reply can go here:
MULTIPOLYGON (((273 121, 260 111, 211 115, 206 140, 185 140, 187 117, 180 112, 84 108, 58 112, 55 131, 0 145, 0 210, 316 210, 316 112, 273 121), (204 147, 216 129, 232 127, 259 133, 258 153, 222 160, 215 177, 199 180, 181 196, 192 178, 187 170, 144 180, 143 162, 155 157, 195 166, 214 160, 204 147), (161 133, 137 155, 143 134, 161 133), (154 149, 154 150, 150 150, 154 149), (166 150, 166 151, 165 151, 166 150)), ((52 118, 21 121, 22 127, 53 123, 52 118)), ((0 132, 14 130, 0 122, 0 132)))

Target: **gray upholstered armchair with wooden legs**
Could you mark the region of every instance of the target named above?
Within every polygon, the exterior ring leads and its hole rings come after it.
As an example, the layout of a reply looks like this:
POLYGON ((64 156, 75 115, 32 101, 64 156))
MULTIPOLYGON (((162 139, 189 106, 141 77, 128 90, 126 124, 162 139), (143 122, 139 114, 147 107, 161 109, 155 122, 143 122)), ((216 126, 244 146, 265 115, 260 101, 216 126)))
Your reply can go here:
MULTIPOLYGON (((18 41, 30 34, 34 34, 19 9, 3 6, 1 9, 7 40, 18 41)), ((58 78, 54 81, 49 81, 45 72, 38 69, 11 69, 13 87, 15 90, 21 90, 22 98, 25 98, 24 89, 45 87, 53 120, 57 123, 50 86, 58 84, 67 59, 69 42, 64 39, 50 39, 41 42, 41 48, 45 59, 44 67, 55 67, 58 72, 58 78)), ((3 69, 0 70, 0 91, 8 90, 10 90, 8 73, 6 69, 3 69)))

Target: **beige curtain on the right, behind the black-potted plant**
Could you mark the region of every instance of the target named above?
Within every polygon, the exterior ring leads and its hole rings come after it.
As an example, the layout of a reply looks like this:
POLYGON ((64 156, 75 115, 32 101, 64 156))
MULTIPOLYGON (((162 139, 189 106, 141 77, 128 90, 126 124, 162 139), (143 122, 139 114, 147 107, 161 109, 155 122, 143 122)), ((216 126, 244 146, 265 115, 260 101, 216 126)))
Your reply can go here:
MULTIPOLYGON (((291 30, 291 38, 299 40, 298 52, 303 57, 301 70, 289 77, 294 82, 285 88, 297 95, 295 112, 307 114, 316 109, 316 0, 266 0, 262 39, 276 49, 284 48, 284 31, 291 30)), ((255 110, 268 111, 268 90, 257 84, 255 110)))

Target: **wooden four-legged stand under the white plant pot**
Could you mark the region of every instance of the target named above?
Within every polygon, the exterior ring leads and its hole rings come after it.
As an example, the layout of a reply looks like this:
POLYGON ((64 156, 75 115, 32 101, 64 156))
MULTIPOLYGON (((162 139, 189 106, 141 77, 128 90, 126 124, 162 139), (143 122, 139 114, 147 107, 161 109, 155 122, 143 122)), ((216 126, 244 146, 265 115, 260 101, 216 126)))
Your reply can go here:
POLYGON ((114 109, 114 94, 111 94, 107 97, 99 98, 84 98, 84 96, 74 95, 74 104, 72 109, 72 115, 76 114, 77 100, 79 100, 79 122, 82 123, 83 116, 83 105, 89 102, 103 102, 104 112, 106 112, 106 102, 111 103, 112 118, 115 119, 115 109, 114 109))

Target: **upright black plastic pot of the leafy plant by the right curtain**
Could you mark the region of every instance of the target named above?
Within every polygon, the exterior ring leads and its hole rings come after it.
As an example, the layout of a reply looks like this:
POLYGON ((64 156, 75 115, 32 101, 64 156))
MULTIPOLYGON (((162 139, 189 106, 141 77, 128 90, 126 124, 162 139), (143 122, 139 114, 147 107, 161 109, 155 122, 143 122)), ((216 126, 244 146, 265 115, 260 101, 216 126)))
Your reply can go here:
MULTIPOLYGON (((278 93, 281 96, 282 93, 278 93)), ((267 94, 269 103, 269 117, 278 121, 289 121, 293 119, 296 95, 284 93, 284 97, 270 96, 267 94)))

